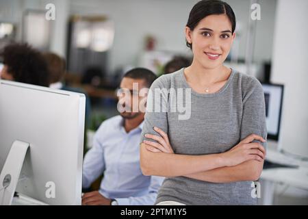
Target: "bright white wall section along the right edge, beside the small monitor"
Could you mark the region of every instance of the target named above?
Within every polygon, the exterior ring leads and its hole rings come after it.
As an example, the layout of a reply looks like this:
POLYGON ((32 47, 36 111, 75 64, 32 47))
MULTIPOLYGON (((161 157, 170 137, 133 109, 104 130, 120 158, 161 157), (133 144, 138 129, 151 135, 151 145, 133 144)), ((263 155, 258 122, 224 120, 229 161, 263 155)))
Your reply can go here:
POLYGON ((272 82, 285 85, 280 148, 308 157, 307 0, 279 0, 272 82), (296 2, 296 3, 295 3, 296 2))

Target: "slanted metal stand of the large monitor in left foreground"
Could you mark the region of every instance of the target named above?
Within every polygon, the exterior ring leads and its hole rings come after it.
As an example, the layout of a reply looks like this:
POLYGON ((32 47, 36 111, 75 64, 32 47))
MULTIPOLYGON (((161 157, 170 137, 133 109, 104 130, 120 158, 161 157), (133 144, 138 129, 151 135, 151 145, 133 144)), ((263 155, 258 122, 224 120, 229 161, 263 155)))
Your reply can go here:
POLYGON ((12 205, 29 143, 14 141, 0 175, 0 205, 12 205))

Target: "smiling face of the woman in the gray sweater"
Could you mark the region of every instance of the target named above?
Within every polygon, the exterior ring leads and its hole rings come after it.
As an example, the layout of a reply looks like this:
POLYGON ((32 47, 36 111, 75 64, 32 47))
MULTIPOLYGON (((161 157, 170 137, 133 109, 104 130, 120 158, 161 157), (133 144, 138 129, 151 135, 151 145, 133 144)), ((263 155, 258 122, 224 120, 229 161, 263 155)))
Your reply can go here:
POLYGON ((204 68, 221 66, 231 49, 235 34, 227 15, 209 15, 193 31, 186 27, 186 40, 192 43, 194 62, 204 68))

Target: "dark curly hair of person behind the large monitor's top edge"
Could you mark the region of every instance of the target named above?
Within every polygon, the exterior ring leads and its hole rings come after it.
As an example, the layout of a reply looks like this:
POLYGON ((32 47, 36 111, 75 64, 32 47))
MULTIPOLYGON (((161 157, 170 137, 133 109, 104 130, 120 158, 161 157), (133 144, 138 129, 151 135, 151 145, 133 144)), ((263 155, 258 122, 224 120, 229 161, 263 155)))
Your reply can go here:
POLYGON ((9 44, 1 51, 1 56, 14 81, 49 86, 47 62, 28 44, 9 44))

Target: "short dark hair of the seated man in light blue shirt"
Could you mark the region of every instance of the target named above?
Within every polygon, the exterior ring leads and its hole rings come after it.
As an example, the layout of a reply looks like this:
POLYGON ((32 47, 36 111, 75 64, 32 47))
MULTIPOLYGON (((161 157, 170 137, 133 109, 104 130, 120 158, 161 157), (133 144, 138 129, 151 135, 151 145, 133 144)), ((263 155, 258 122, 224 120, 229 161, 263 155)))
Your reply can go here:
POLYGON ((150 88, 151 84, 155 81, 155 79, 157 79, 155 73, 146 68, 133 68, 125 73, 123 77, 129 77, 132 79, 144 79, 147 88, 150 88))

